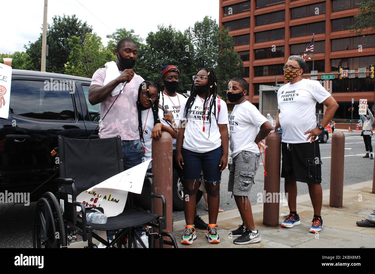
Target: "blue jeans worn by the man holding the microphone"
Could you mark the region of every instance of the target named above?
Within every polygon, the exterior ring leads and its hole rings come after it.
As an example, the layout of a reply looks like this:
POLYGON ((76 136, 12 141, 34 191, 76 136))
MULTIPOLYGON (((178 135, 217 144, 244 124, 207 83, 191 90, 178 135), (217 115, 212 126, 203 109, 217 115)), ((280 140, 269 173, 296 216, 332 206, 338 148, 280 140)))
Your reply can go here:
MULTIPOLYGON (((121 140, 122 155, 124 162, 124 170, 135 167, 144 161, 144 153, 141 140, 121 140)), ((115 232, 113 230, 107 231, 108 240, 113 241, 115 232)))

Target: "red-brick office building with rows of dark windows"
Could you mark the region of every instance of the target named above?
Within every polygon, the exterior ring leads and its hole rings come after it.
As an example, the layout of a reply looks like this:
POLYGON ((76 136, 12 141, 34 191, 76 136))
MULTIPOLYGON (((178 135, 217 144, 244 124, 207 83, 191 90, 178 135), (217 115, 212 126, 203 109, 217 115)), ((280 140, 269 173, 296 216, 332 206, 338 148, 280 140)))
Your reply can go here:
MULTIPOLYGON (((353 16, 359 12, 360 0, 219 0, 219 24, 229 29, 235 50, 244 62, 243 77, 249 83, 248 100, 259 104, 259 85, 284 81, 282 66, 290 55, 301 55, 315 34, 314 70, 337 73, 338 66, 357 70, 375 65, 375 34, 361 36, 350 32, 353 16)), ((306 74, 312 70, 306 59, 306 74)), ((350 119, 354 98, 354 119, 359 99, 368 99, 374 110, 375 79, 344 78, 332 80, 332 95, 339 104, 335 119, 350 119)), ((305 78, 309 78, 305 77, 305 78)), ((318 76, 318 80, 321 77, 318 76)), ((228 102, 229 110, 232 108, 228 102)), ((319 107, 323 110, 323 107, 319 107)))

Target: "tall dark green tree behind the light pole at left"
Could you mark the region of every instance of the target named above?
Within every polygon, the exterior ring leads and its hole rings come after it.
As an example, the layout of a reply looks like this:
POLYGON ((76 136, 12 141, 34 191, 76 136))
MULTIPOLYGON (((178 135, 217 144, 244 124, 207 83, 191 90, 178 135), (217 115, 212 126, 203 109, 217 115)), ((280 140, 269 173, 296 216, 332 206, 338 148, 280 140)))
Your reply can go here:
MULTIPOLYGON (((75 15, 54 16, 52 24, 47 25, 48 56, 46 57, 46 71, 54 73, 64 73, 65 64, 68 61, 72 48, 69 40, 75 36, 80 39, 80 44, 84 44, 85 34, 92 33, 92 27, 87 22, 82 22, 75 15)), ((26 53, 30 56, 28 69, 40 70, 42 54, 42 33, 35 42, 29 41, 24 46, 26 53)))

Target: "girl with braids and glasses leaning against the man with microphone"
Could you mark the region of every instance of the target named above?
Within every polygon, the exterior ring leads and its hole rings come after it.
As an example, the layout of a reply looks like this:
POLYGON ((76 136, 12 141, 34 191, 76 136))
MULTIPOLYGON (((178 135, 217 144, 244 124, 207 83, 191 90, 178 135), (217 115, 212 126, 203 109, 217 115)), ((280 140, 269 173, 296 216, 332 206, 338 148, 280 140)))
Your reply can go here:
MULTIPOLYGON (((162 130, 177 138, 177 133, 163 120, 163 110, 159 106, 160 86, 151 81, 143 81, 138 89, 138 131, 143 144, 145 161, 151 159, 152 139, 160 139, 162 130)), ((148 172, 151 172, 151 162, 148 172)))

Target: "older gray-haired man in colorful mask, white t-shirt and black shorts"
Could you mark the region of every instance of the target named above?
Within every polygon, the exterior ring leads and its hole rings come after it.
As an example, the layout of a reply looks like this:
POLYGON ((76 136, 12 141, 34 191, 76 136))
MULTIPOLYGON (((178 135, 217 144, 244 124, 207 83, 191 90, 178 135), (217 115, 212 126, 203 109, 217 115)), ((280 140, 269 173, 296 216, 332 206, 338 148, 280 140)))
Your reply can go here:
POLYGON ((297 214, 297 182, 305 182, 314 207, 311 233, 323 231, 321 217, 322 187, 321 160, 318 135, 332 119, 339 105, 324 87, 315 80, 303 79, 306 62, 300 56, 288 58, 283 67, 285 80, 289 83, 278 90, 278 114, 275 127, 281 126, 282 170, 285 178, 285 193, 288 194, 290 214, 282 227, 291 228, 300 224, 297 214), (323 119, 317 124, 315 107, 317 102, 327 107, 323 119))

